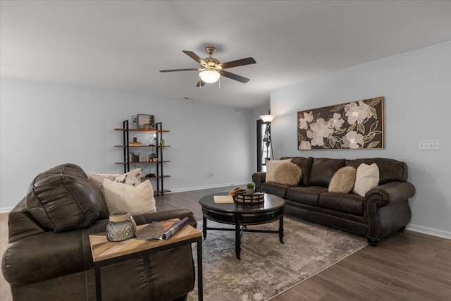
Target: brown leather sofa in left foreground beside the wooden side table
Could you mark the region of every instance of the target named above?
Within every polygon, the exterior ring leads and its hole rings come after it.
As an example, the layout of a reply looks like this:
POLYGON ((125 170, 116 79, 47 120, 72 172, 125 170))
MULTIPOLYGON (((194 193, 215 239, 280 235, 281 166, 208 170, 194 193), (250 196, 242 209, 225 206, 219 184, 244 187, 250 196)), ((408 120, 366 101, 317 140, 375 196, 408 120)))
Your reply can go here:
MULTIPOLYGON (((109 211, 82 168, 63 164, 39 174, 9 214, 1 269, 13 300, 95 300, 89 235, 105 231, 109 211)), ((189 217, 187 209, 133 216, 138 225, 189 217)), ((185 300, 194 288, 190 245, 101 268, 104 300, 185 300)))

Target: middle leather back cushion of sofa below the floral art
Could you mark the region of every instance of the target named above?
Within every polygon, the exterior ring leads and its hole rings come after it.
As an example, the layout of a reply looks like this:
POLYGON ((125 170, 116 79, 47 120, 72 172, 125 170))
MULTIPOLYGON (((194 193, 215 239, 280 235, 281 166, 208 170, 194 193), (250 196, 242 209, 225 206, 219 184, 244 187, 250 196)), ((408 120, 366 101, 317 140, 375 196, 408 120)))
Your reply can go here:
POLYGON ((311 164, 309 186, 328 188, 333 175, 345 166, 345 162, 345 159, 314 158, 311 164))

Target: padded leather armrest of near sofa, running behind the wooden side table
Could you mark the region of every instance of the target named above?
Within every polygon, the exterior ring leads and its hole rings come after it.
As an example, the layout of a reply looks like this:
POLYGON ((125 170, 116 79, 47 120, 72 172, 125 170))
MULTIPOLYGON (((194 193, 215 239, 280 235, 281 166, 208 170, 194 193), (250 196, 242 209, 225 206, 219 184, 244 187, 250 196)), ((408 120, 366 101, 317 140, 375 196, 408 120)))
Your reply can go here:
MULTIPOLYGON (((197 221, 187 209, 175 209, 133 216, 138 225, 183 219, 194 228, 197 221)), ((87 271, 94 267, 89 246, 89 235, 105 232, 108 219, 95 221, 91 227, 74 231, 47 231, 31 235, 8 245, 1 262, 1 270, 12 286, 37 283, 50 278, 87 271)))

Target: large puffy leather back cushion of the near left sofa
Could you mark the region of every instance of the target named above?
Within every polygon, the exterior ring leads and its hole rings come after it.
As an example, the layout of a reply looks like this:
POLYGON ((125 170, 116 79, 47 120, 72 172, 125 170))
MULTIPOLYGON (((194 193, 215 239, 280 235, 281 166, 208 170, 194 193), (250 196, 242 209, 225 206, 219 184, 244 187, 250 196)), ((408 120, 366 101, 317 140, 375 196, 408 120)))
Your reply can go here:
POLYGON ((100 202, 82 168, 62 164, 33 180, 25 208, 44 228, 69 231, 91 226, 100 216, 100 202))

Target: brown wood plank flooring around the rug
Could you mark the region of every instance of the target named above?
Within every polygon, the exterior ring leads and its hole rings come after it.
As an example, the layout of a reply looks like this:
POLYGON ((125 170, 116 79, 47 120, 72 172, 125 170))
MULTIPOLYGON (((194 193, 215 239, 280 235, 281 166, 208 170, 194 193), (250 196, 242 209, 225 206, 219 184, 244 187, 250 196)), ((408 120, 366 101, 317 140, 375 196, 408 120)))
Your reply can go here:
MULTIPOLYGON (((159 211, 187 208, 200 221, 199 199, 228 190, 166 193, 155 197, 156 207, 159 211)), ((0 214, 1 255, 7 245, 8 214, 0 214)), ((0 300, 12 300, 3 275, 0 285, 0 300)), ((378 247, 364 247, 271 299, 295 300, 451 300, 451 240, 412 231, 394 233, 378 247)))

